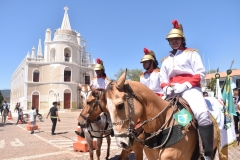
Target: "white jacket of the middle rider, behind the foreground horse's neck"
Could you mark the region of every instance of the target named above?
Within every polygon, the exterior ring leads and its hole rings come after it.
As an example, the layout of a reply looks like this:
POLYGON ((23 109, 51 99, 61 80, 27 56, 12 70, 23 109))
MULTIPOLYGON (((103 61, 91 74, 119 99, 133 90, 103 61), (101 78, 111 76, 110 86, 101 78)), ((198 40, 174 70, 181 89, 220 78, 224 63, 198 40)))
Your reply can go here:
POLYGON ((151 89, 154 93, 163 94, 160 86, 160 70, 154 69, 152 73, 144 72, 140 76, 140 82, 151 89))

